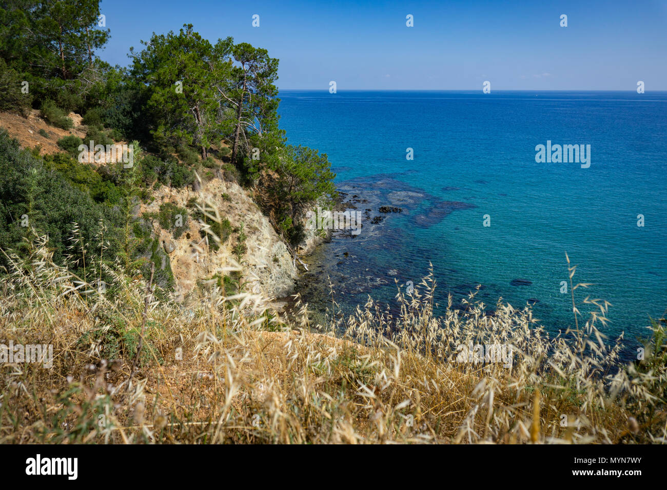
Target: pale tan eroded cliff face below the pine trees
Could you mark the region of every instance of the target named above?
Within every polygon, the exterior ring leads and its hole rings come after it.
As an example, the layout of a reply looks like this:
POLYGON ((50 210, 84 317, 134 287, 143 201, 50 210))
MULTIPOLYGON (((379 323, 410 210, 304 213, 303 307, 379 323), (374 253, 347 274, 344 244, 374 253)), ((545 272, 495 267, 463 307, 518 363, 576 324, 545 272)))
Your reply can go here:
POLYGON ((237 183, 219 178, 198 187, 201 187, 199 191, 189 187, 161 187, 153 191, 153 201, 142 205, 140 211, 141 215, 157 214, 163 203, 187 208, 188 215, 178 238, 173 237, 174 229, 163 229, 158 220, 153 219, 155 233, 169 254, 177 297, 185 299, 195 290, 197 281, 229 274, 224 268, 235 261, 233 247, 238 243, 241 224, 246 235, 246 251, 241 258, 245 291, 262 293, 269 300, 291 293, 297 277, 293 257, 247 192, 237 183), (210 238, 201 237, 203 226, 193 217, 195 199, 217 208, 221 219, 227 218, 235 229, 217 250, 208 243, 210 238))

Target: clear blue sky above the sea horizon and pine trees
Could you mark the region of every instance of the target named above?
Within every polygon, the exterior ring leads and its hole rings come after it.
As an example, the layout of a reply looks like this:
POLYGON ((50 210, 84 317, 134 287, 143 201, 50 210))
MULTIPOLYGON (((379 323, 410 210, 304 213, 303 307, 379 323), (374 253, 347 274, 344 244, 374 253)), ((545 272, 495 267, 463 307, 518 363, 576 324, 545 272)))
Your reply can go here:
POLYGON ((277 86, 329 90, 667 90, 667 0, 103 0, 102 59, 185 23, 263 47, 277 86), (253 27, 259 15, 259 27, 253 27), (406 25, 412 15, 414 27, 406 25), (567 15, 567 27, 561 27, 567 15))

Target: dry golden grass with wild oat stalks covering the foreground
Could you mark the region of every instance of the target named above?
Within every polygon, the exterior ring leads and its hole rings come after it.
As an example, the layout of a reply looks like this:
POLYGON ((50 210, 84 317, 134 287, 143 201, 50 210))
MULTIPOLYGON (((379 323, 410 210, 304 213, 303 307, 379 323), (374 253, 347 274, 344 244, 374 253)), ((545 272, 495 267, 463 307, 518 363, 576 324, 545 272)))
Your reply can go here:
POLYGON ((30 246, 0 279, 0 342, 53 344, 53 367, 0 365, 0 443, 666 442, 664 326, 619 367, 604 301, 586 298, 588 318, 574 307, 576 330, 552 338, 530 307, 499 301, 490 316, 474 294, 436 316, 430 274, 399 291, 398 317, 369 300, 319 326, 307 305, 279 319, 214 283, 157 301, 145 279, 93 262, 113 277, 101 293, 45 238, 30 246), (458 362, 471 342, 511 346, 511 367, 458 362))

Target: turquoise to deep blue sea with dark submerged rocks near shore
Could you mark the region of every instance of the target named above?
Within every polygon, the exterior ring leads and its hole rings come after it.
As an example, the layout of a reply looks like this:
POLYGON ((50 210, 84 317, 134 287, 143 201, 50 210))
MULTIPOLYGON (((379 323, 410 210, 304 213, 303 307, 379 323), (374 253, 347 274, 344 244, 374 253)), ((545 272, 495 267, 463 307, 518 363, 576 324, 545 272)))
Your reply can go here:
MULTIPOLYGON (((457 301, 476 284, 494 307, 537 299, 551 330, 572 325, 575 291, 612 303, 608 334, 646 335, 667 307, 667 93, 281 91, 289 143, 327 153, 360 210, 402 207, 321 256, 337 300, 391 303, 394 279, 418 283, 434 265, 457 301), (536 145, 591 147, 589 168, 536 163, 536 145), (414 160, 406 149, 414 149, 414 160), (490 215, 490 227, 484 227, 490 215), (644 215, 644 227, 638 227, 644 215), (344 251, 348 252, 344 256, 344 251), (512 285, 528 279, 531 285, 512 285)), ((348 197, 348 199, 350 198, 348 197)), ((314 300, 313 300, 314 301, 314 300)), ((582 309, 586 308, 582 305, 582 309)))

